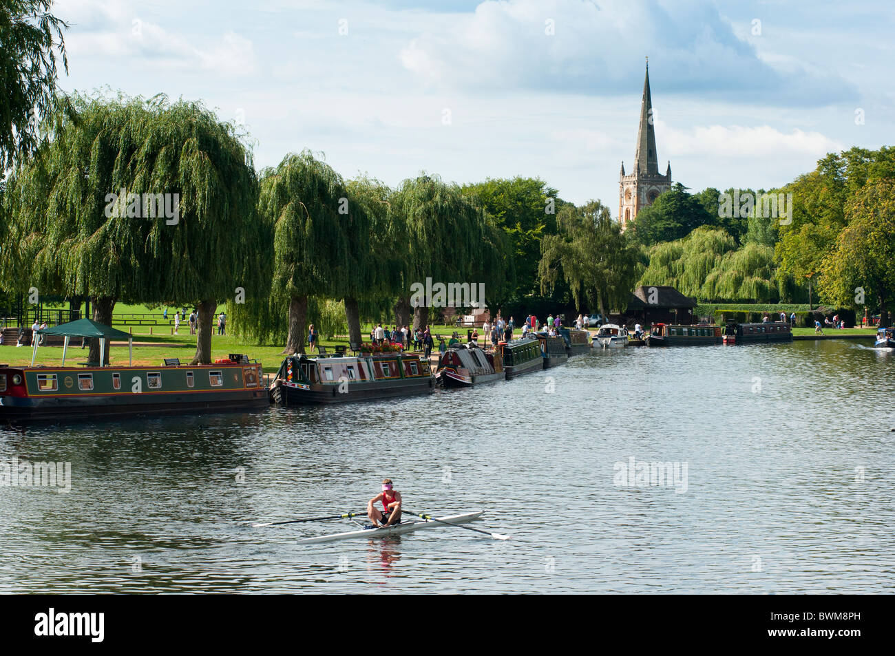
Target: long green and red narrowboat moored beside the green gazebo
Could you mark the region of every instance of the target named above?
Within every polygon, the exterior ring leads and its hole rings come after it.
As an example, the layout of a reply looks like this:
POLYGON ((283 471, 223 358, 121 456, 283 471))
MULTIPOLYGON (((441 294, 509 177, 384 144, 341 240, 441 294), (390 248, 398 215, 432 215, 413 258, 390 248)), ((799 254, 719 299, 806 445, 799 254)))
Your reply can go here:
POLYGON ((230 355, 214 364, 158 367, 0 365, 0 420, 94 419, 269 404, 259 362, 230 355))

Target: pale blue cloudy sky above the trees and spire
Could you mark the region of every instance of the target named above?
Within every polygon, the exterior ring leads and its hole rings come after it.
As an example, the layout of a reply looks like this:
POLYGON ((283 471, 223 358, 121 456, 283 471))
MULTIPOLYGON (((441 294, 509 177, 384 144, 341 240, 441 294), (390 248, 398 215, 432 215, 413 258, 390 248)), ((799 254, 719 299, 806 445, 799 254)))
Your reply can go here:
POLYGON ((254 164, 540 177, 618 214, 649 57, 660 170, 770 189, 895 134, 895 3, 56 0, 66 91, 201 100, 254 164))

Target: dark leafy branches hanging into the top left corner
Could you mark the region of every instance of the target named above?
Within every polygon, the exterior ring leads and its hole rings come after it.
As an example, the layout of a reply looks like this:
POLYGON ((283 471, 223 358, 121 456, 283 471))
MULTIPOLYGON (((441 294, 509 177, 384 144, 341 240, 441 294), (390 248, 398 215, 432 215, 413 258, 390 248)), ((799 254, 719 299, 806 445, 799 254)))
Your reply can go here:
POLYGON ((56 59, 68 72, 62 30, 68 25, 50 13, 50 0, 4 0, 0 4, 0 164, 38 147, 38 121, 54 105, 56 59))

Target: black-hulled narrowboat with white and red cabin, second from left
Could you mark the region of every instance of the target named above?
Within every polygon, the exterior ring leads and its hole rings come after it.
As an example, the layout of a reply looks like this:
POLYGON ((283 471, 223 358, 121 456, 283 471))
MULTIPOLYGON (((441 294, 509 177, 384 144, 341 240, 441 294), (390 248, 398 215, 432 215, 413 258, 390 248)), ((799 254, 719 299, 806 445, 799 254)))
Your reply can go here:
POLYGON ((336 404, 394 396, 431 394, 428 360, 400 352, 360 355, 290 355, 270 384, 274 403, 336 404))

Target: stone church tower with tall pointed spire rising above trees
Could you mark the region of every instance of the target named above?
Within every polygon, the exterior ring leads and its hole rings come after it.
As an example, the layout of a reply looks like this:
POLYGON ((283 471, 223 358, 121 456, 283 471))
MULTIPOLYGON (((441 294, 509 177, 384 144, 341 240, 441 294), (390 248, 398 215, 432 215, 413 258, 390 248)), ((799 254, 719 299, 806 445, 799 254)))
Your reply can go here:
POLYGON ((618 182, 618 220, 624 230, 634 220, 637 212, 652 205, 661 192, 671 188, 671 163, 665 175, 659 173, 659 155, 656 152, 656 132, 652 125, 652 98, 650 98, 650 63, 646 62, 644 98, 640 103, 640 125, 637 127, 637 152, 634 170, 625 175, 625 163, 621 163, 618 182))

